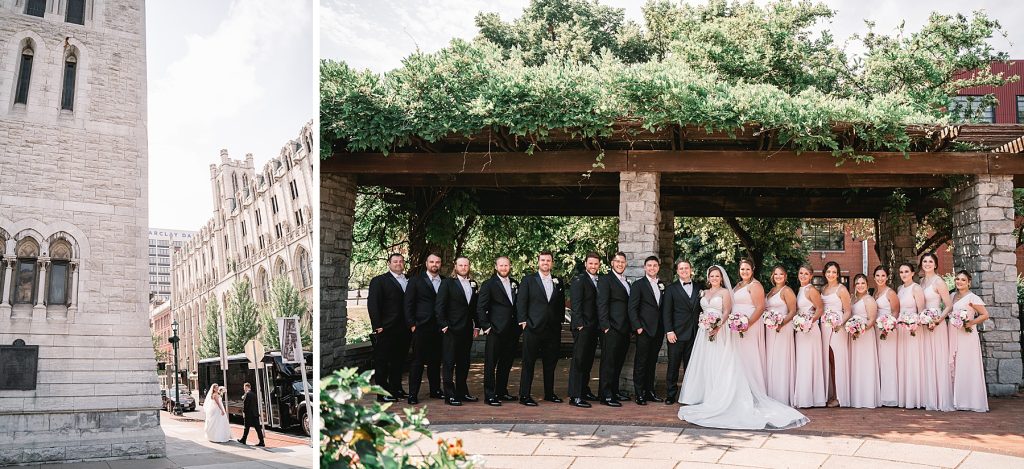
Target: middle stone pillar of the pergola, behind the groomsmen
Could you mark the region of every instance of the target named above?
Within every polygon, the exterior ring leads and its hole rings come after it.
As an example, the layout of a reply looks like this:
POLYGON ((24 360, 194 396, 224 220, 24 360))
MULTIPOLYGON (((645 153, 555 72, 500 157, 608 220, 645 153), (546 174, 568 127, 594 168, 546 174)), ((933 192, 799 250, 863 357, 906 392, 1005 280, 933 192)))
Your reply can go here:
MULTIPOLYGON (((644 275, 643 261, 647 256, 660 254, 660 173, 624 171, 618 174, 618 250, 626 254, 626 278, 630 282, 644 275)), ((633 393, 635 354, 636 347, 630 345, 620 378, 620 389, 629 393, 633 393)))

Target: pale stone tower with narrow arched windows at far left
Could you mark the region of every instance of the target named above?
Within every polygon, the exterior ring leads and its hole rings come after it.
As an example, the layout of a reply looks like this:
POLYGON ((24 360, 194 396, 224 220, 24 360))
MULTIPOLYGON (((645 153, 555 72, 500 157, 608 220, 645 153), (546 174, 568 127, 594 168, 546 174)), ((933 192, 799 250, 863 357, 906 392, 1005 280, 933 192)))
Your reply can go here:
POLYGON ((0 0, 0 466, 165 454, 147 158, 144 2, 0 0))

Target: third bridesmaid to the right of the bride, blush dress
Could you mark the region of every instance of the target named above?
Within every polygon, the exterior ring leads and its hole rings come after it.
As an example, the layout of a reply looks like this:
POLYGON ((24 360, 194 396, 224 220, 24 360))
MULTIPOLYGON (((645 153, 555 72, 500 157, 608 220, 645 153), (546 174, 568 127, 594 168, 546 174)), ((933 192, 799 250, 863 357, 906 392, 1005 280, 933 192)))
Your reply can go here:
POLYGON ((797 408, 823 408, 828 393, 825 386, 825 367, 822 363, 821 328, 818 321, 825 308, 821 294, 811 285, 814 269, 800 266, 800 290, 797 292, 798 314, 810 319, 807 331, 797 331, 796 363, 794 364, 793 406, 797 408))

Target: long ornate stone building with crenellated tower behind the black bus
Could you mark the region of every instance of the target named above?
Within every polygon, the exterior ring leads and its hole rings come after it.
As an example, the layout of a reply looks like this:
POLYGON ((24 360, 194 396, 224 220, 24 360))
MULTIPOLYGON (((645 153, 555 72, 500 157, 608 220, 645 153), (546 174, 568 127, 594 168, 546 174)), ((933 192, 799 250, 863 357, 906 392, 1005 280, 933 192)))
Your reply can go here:
POLYGON ((232 160, 226 150, 210 165, 213 218, 171 258, 178 367, 188 371, 191 389, 198 388, 197 351, 211 298, 224 311, 231 286, 248 281, 253 298, 264 303, 273 279, 284 275, 312 308, 313 135, 309 122, 259 171, 252 154, 232 160))

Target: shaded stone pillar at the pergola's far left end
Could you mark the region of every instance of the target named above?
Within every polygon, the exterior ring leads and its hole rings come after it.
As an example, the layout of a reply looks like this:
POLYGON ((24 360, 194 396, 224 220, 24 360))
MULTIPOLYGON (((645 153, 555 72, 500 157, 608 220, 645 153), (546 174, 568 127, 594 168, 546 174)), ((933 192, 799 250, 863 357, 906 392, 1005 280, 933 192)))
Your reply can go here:
POLYGON ((321 373, 343 367, 355 177, 321 174, 321 373))

